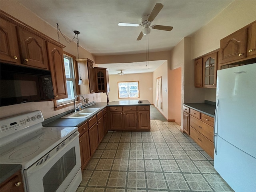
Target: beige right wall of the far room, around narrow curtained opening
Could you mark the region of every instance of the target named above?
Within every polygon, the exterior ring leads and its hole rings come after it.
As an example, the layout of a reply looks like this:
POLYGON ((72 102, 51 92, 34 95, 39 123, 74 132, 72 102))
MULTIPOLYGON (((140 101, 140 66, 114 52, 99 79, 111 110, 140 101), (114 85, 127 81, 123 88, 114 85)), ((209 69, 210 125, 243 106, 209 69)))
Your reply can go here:
POLYGON ((168 119, 168 62, 164 62, 153 72, 153 103, 156 105, 156 78, 162 77, 162 109, 158 109, 168 119), (165 91, 166 90, 166 91, 165 91))

